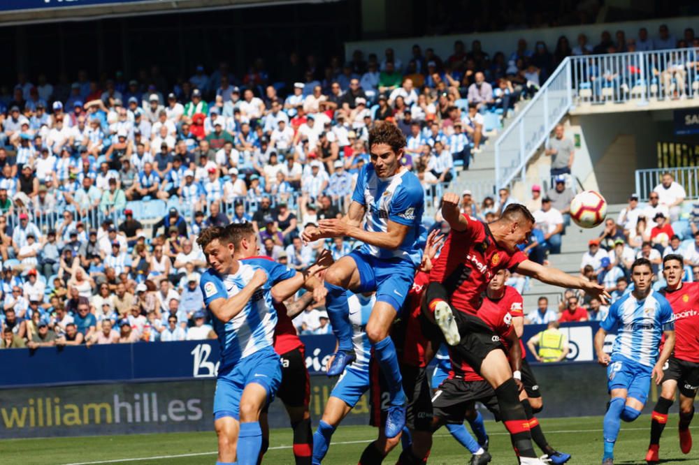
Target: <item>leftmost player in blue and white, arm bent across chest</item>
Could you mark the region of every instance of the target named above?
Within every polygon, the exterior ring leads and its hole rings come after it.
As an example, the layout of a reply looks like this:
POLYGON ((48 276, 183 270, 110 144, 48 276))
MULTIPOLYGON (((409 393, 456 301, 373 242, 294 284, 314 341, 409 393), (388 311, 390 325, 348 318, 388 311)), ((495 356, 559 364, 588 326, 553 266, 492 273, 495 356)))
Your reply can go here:
POLYGON ((197 243, 210 266, 200 286, 221 345, 214 396, 217 464, 232 464, 237 457, 240 465, 254 465, 262 445, 259 415, 281 383, 273 302, 296 293, 322 267, 297 276, 271 260, 241 263, 234 256, 231 228, 206 228, 197 243))

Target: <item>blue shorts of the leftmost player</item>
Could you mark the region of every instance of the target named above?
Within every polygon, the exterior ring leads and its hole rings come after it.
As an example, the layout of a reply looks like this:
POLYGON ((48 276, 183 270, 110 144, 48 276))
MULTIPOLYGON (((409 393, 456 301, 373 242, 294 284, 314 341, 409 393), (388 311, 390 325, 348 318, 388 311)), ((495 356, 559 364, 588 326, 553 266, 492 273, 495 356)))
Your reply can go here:
POLYGON ((269 347, 249 355, 230 369, 219 372, 214 394, 214 418, 233 417, 240 420, 240 397, 245 386, 257 383, 267 391, 267 404, 282 383, 279 355, 269 347))

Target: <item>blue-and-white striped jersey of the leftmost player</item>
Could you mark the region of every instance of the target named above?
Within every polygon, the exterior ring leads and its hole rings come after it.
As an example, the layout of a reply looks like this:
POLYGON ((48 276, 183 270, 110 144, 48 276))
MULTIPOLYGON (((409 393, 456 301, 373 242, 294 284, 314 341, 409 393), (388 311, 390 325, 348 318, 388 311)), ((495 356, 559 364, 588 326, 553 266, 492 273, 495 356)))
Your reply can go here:
POLYGON ((277 312, 273 307, 271 289, 275 283, 294 277, 296 272, 272 260, 248 258, 240 261, 240 267, 235 274, 220 276, 209 269, 201 275, 199 286, 208 309, 214 300, 228 299, 240 292, 250 283, 255 270, 259 269, 267 273, 267 282, 254 293, 243 311, 226 323, 211 313, 214 331, 218 334, 221 345, 219 371, 233 366, 240 359, 259 350, 273 347, 277 312))

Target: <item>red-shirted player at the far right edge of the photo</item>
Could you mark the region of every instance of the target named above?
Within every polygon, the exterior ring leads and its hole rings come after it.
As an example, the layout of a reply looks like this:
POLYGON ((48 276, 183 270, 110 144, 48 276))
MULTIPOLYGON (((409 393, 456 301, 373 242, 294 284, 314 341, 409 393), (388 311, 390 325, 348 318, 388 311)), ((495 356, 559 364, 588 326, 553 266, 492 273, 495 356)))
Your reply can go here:
POLYGON ((699 283, 683 283, 683 274, 683 256, 672 253, 663 258, 663 275, 668 285, 661 293, 675 313, 675 352, 663 367, 662 390, 651 415, 651 443, 646 455, 648 464, 658 463, 660 436, 668 422, 668 410, 677 388, 679 448, 684 454, 689 454, 692 448, 689 423, 694 416, 694 399, 699 388, 699 283))

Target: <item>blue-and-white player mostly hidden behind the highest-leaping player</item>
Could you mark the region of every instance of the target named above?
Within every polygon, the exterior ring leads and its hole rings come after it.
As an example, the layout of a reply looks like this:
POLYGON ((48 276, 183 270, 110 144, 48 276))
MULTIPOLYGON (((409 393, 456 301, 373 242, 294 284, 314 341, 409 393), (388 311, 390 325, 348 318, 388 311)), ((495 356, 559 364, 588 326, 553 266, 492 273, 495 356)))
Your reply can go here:
POLYGON ((313 464, 320 464, 324 459, 333 433, 340 422, 354 408, 361 396, 369 389, 369 360, 371 343, 366 335, 366 323, 375 304, 375 296, 369 294, 352 294, 347 292, 349 321, 352 322, 352 344, 356 358, 338 379, 325 405, 323 418, 313 434, 313 464))

